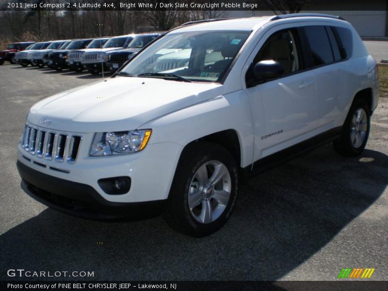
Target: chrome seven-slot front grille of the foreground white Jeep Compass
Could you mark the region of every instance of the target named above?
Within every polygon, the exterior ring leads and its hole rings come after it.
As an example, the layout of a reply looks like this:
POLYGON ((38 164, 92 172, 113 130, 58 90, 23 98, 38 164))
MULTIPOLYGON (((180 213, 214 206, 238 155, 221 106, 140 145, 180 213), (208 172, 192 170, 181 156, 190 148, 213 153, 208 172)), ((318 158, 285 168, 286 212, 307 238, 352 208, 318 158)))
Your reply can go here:
POLYGON ((76 162, 81 136, 52 132, 26 124, 22 147, 31 155, 55 162, 76 162))

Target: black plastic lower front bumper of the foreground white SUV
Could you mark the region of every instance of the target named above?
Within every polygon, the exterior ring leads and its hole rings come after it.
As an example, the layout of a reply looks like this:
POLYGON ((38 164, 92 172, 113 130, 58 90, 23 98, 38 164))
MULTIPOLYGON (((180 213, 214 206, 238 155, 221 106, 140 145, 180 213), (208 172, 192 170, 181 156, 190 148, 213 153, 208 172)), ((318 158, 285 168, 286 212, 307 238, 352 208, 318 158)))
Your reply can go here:
POLYGON ((21 188, 50 208, 84 218, 113 219, 159 215, 165 200, 120 203, 105 200, 86 184, 56 178, 17 161, 21 188))

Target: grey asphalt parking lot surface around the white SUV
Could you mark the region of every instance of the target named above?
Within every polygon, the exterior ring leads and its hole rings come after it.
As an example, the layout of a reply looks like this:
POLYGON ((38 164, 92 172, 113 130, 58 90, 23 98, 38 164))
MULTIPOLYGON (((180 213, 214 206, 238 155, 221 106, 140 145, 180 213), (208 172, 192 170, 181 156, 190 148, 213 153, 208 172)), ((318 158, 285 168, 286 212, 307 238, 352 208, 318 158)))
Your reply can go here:
POLYGON ((6 273, 16 268, 94 271, 94 280, 336 280, 345 267, 375 268, 372 280, 388 280, 388 98, 372 116, 361 157, 340 157, 327 145, 253 178, 226 226, 193 239, 161 217, 68 216, 20 189, 16 144, 29 108, 94 81, 0 66, 0 280, 15 279, 6 273))

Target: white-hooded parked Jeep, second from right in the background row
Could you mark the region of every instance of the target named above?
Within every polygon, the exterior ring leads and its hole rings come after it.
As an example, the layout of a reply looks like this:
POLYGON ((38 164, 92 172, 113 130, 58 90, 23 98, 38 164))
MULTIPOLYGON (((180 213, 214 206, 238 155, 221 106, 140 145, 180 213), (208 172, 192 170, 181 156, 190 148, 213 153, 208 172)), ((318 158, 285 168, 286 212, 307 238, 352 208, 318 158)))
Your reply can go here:
POLYGON ((109 39, 102 49, 92 49, 82 54, 81 65, 93 75, 107 70, 106 54, 109 51, 122 49, 129 45, 136 34, 120 35, 109 39))

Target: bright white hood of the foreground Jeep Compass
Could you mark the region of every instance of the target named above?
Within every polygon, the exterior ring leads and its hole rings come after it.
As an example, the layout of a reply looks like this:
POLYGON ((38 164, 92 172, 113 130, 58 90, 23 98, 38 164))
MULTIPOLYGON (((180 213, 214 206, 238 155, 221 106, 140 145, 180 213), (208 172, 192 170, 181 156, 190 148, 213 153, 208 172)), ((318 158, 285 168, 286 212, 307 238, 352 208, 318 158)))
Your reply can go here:
POLYGON ((138 129, 146 122, 222 95, 221 84, 115 77, 36 103, 28 121, 71 132, 138 129))

